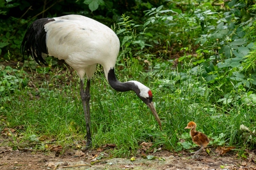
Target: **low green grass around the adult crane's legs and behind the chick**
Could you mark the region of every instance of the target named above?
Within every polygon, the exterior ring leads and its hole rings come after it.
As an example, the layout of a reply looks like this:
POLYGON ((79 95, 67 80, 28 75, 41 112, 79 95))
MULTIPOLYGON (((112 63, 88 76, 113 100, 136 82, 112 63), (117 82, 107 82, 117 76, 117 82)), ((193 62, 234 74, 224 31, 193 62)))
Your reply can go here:
MULTIPOLYGON (((150 87, 163 131, 160 131, 154 116, 134 92, 111 89, 100 69, 97 69, 91 87, 93 148, 115 143, 117 149, 112 152, 116 157, 136 155, 143 141, 167 150, 182 150, 186 146, 179 143, 180 138, 192 144, 188 129, 184 129, 190 121, 196 122, 198 131, 214 139, 209 146, 255 146, 255 136, 244 138, 248 136, 248 131, 239 130, 241 124, 250 131, 255 129, 256 110, 253 106, 245 104, 241 107, 238 103, 232 106, 218 105, 214 101, 215 94, 209 92, 207 99, 207 87, 193 74, 186 74, 182 78, 182 74, 175 76, 170 69, 165 71, 166 76, 159 76, 152 72, 141 72, 138 63, 130 68, 132 71, 129 68, 116 71, 119 80, 137 80, 150 87), (175 80, 175 83, 166 80, 175 80)), ((53 73, 51 75, 54 76, 53 73)), ((56 78, 50 80, 38 85, 38 90, 24 87, 7 92, 10 101, 0 102, 1 131, 4 127, 22 126, 18 130, 22 138, 15 137, 20 141, 29 140, 33 135, 55 138, 56 143, 62 145, 73 142, 68 136, 83 139, 86 127, 77 77, 74 78, 77 81, 66 86, 58 85, 56 78), (49 87, 51 83, 56 85, 49 87), (34 96, 33 99, 31 96, 34 96)), ((34 147, 42 148, 38 145, 34 147)))

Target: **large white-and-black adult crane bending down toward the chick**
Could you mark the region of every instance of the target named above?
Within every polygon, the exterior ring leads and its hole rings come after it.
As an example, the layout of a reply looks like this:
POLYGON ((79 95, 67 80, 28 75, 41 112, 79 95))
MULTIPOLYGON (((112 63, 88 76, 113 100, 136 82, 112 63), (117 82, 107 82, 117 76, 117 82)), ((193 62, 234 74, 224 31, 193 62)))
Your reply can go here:
POLYGON ((35 20, 26 32, 21 45, 22 53, 27 51, 38 64, 46 64, 44 55, 63 59, 77 71, 81 80, 80 95, 86 120, 86 146, 92 143, 90 132, 90 80, 96 65, 104 67, 109 85, 120 92, 133 90, 150 108, 160 129, 161 121, 152 102, 152 92, 138 81, 120 82, 115 76, 115 63, 120 42, 115 32, 96 20, 81 15, 42 18, 35 20), (84 91, 84 74, 87 82, 84 91))

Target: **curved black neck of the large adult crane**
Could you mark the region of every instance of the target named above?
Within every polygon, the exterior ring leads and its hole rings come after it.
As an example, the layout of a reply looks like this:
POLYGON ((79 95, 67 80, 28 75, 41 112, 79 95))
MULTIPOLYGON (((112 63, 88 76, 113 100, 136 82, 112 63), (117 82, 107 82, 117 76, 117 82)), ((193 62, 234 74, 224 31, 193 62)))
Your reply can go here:
POLYGON ((129 90, 134 90, 134 92, 136 92, 136 87, 135 87, 134 83, 132 83, 132 82, 124 82, 124 83, 122 83, 122 82, 117 80, 114 68, 109 69, 109 72, 108 72, 108 82, 109 82, 109 85, 113 89, 115 89, 116 91, 127 92, 129 90))

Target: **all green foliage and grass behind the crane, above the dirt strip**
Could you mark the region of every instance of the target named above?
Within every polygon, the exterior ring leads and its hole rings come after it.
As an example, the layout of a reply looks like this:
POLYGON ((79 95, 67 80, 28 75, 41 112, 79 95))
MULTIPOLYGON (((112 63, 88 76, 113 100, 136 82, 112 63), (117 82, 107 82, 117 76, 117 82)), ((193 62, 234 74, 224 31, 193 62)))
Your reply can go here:
POLYGON ((92 82, 93 146, 113 142, 115 154, 124 156, 136 154, 142 141, 189 149, 193 143, 184 127, 194 121, 212 139, 211 146, 253 148, 255 8, 251 0, 0 0, 1 128, 23 125, 19 136, 24 139, 85 131, 83 114, 75 114, 83 113, 76 73, 52 57, 46 67, 26 57, 22 61, 19 49, 34 20, 76 13, 116 32, 119 79, 152 89, 164 127, 158 131, 134 94, 111 90, 99 66, 92 82))

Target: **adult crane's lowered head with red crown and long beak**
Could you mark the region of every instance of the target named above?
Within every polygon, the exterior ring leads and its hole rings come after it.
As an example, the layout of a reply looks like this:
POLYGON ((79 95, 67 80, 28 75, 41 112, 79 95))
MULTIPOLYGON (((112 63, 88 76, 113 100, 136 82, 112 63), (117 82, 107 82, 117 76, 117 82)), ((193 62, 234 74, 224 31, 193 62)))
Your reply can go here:
POLYGON ((153 103, 153 95, 151 90, 147 86, 143 85, 138 81, 128 81, 128 82, 132 82, 135 84, 134 86, 135 88, 133 89, 134 92, 136 92, 137 96, 141 99, 141 101, 147 104, 148 108, 150 108, 150 110, 152 111, 154 117, 156 118, 160 126, 160 129, 163 131, 163 129, 161 128, 162 124, 161 124, 160 118, 157 115, 156 108, 153 103))

